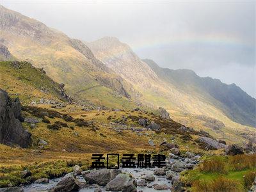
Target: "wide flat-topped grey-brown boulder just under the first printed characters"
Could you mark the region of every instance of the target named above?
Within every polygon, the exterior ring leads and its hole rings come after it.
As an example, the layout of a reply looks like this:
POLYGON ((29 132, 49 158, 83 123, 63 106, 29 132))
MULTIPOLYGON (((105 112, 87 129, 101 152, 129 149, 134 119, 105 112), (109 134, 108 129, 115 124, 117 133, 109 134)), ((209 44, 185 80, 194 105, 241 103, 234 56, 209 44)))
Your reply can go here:
POLYGON ((99 184, 100 186, 106 186, 108 182, 112 179, 115 179, 116 175, 121 173, 120 170, 116 169, 101 169, 101 170, 92 170, 90 173, 85 173, 83 175, 84 180, 89 184, 99 184))

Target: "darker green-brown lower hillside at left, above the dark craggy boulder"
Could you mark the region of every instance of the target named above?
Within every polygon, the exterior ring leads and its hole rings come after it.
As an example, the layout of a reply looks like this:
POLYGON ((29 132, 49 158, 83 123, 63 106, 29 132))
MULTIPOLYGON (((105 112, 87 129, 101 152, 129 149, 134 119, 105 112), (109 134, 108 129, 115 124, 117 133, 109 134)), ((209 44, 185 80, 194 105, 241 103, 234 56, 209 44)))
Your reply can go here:
POLYGON ((48 77, 42 68, 35 68, 26 61, 0 61, 0 88, 11 97, 19 97, 22 104, 49 99, 67 102, 70 98, 58 84, 48 77))

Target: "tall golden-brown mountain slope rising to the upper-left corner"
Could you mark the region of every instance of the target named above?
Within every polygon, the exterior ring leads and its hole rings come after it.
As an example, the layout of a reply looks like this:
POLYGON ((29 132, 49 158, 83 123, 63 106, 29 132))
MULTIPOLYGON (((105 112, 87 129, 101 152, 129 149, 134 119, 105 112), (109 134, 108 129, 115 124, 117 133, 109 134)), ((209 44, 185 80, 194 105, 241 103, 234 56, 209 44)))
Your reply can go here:
POLYGON ((0 33, 0 43, 15 58, 44 68, 54 81, 65 83, 75 99, 102 106, 108 106, 108 99, 115 101, 112 106, 129 101, 125 88, 129 89, 129 84, 97 60, 83 42, 3 6, 0 6, 0 33))

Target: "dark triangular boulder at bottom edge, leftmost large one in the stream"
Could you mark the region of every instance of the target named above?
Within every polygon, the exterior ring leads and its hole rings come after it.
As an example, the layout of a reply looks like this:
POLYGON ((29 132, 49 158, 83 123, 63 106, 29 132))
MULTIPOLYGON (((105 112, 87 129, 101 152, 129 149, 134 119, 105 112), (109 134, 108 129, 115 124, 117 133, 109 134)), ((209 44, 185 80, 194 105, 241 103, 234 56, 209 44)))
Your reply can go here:
POLYGON ((77 191, 79 182, 72 173, 65 175, 53 188, 53 192, 57 191, 77 191))

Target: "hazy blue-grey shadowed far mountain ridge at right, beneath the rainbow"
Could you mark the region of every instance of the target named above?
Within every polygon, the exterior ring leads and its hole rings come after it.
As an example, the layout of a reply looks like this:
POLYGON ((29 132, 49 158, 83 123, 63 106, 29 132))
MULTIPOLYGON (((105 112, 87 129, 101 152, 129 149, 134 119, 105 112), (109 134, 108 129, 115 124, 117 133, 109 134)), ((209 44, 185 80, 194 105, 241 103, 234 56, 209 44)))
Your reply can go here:
POLYGON ((256 127, 256 99, 236 84, 221 83, 219 79, 199 77, 192 70, 161 68, 152 60, 143 60, 163 81, 187 93, 203 95, 234 122, 256 127))

